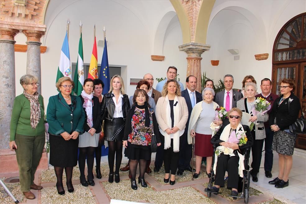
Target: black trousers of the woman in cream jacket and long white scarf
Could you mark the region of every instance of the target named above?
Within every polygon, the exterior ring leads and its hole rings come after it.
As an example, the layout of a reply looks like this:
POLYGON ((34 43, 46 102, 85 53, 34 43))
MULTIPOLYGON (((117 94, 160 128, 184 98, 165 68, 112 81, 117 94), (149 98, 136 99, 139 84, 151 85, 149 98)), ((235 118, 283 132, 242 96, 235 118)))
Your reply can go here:
POLYGON ((170 169, 171 174, 176 174, 179 165, 179 152, 173 151, 173 139, 171 139, 171 147, 164 150, 164 165, 166 174, 170 173, 170 169))

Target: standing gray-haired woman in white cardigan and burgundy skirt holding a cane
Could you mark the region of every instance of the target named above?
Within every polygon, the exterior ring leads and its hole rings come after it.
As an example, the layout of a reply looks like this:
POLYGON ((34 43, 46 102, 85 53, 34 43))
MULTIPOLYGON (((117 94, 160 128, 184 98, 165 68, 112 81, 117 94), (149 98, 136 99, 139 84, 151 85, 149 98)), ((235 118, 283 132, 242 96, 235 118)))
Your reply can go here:
POLYGON ((188 144, 191 144, 192 137, 195 137, 195 155, 196 155, 196 172, 193 178, 198 178, 201 169, 202 157, 206 157, 206 174, 211 177, 211 165, 213 147, 210 142, 213 136, 211 123, 219 126, 222 121, 215 121, 215 110, 219 107, 217 103, 212 101, 215 91, 206 87, 202 92, 203 101, 197 103, 191 112, 188 127, 188 144))

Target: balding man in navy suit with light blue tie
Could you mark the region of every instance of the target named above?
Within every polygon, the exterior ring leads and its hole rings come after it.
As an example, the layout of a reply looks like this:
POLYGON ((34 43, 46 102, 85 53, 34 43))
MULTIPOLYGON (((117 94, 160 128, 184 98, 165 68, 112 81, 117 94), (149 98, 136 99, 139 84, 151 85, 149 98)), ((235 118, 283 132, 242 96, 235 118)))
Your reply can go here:
POLYGON ((188 145, 187 136, 189 119, 191 115, 192 108, 195 104, 202 101, 202 95, 196 91, 197 78, 195 76, 188 76, 186 78, 186 89, 182 91, 182 97, 185 98, 188 107, 188 120, 186 123, 186 128, 184 134, 179 139, 179 170, 178 175, 183 175, 184 170, 192 172, 190 166, 190 160, 192 158, 192 145, 188 145))

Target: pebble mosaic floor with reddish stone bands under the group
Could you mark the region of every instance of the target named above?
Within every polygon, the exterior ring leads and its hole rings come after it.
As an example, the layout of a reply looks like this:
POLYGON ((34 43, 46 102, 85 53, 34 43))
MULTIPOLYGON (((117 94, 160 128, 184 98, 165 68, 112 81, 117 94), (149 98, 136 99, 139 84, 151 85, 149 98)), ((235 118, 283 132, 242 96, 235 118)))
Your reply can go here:
MULTIPOLYGON (((126 164, 122 164, 121 167, 126 164)), ((153 170, 153 166, 151 166, 153 170)), ((208 203, 208 204, 219 204, 219 203, 243 203, 243 199, 233 200, 232 197, 228 197, 230 190, 221 188, 221 194, 211 195, 208 198, 204 188, 207 187, 208 178, 204 170, 201 170, 201 174, 198 179, 191 181, 191 173, 184 172, 182 176, 176 176, 175 185, 171 186, 164 183, 164 169, 161 168, 159 172, 152 172, 149 175, 145 175, 148 183, 147 188, 141 187, 137 183, 138 189, 132 190, 131 183, 128 179, 128 171, 121 172, 121 181, 119 183, 108 182, 108 165, 101 166, 102 179, 95 178, 95 186, 84 187, 79 183, 80 172, 76 167, 73 170, 73 186, 75 191, 69 193, 66 189, 65 195, 58 195, 55 187, 56 177, 54 170, 44 170, 36 172, 39 179, 37 184, 41 184, 44 188, 36 191, 37 198, 33 201, 27 200, 23 197, 20 192, 19 183, 7 184, 7 187, 12 191, 15 197, 21 203, 37 203, 37 204, 58 204, 58 203, 80 203, 80 204, 95 204, 95 203, 109 203, 110 199, 143 202, 143 203, 174 203, 174 204, 185 204, 185 203, 208 203), (29 202, 30 201, 30 202, 29 202)), ((36 176, 35 174, 35 176, 36 176)), ((65 173, 63 174, 63 180, 65 180, 65 173)), ((95 175, 95 167, 94 167, 95 175)), ((137 174, 138 177, 138 174, 137 174)), ((5 178, 1 178, 4 180, 5 178)), ((65 181, 63 181, 65 183, 65 181)), ((33 191, 33 190, 31 190, 33 191)), ((249 203, 262 203, 262 204, 281 204, 279 200, 275 199, 269 194, 269 192, 260 192, 254 188, 249 190, 250 198, 249 203)), ((276 197, 277 198, 277 197, 276 197)), ((10 204, 14 203, 13 200, 8 196, 5 190, 0 186, 0 203, 10 204)))

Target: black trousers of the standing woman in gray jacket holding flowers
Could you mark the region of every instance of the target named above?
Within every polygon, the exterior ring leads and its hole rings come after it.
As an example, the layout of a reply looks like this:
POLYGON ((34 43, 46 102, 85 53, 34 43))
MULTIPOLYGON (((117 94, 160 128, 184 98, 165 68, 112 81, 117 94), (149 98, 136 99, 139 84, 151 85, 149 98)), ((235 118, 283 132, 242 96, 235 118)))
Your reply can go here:
MULTIPOLYGON (((256 127, 255 127, 256 128, 256 127)), ((259 172, 261 157, 262 157, 262 147, 263 147, 263 141, 262 140, 255 140, 255 131, 251 131, 253 136, 253 145, 251 147, 252 149, 252 174, 257 174, 259 172)))

